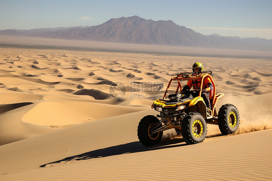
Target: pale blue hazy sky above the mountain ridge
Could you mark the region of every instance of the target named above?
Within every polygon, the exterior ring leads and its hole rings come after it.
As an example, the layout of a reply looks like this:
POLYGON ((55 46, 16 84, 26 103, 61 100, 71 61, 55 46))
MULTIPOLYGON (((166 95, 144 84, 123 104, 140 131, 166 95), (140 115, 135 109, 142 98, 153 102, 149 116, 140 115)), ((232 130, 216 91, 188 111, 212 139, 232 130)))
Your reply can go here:
POLYGON ((202 34, 272 39, 272 0, 0 0, 0 30, 96 26, 133 15, 202 34))

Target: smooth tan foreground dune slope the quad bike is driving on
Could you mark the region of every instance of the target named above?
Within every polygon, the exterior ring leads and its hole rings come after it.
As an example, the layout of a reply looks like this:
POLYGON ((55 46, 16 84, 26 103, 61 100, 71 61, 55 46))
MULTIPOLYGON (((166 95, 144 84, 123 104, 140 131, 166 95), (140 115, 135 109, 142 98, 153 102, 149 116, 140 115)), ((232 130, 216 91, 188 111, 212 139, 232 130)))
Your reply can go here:
POLYGON ((198 163, 202 174, 196 175, 197 179, 271 178, 271 130, 214 136, 194 146, 186 145, 182 139, 166 138, 156 147, 145 148, 130 132, 141 116, 150 113, 132 113, 134 119, 130 124, 119 129, 122 134, 110 128, 123 124, 127 115, 18 141, 13 143, 17 149, 9 153, 4 151, 11 150, 12 145, 4 145, 1 160, 5 166, 1 167, 1 173, 5 175, 0 177, 4 180, 168 180, 171 173, 171 178, 187 180, 195 173, 195 163, 198 163), (48 147, 52 149, 48 150, 48 147), (22 158, 16 154, 19 149, 20 156, 24 155, 22 158), (30 155, 29 150, 35 150, 36 154, 30 155), (10 164, 11 158, 6 154, 14 155, 12 162, 15 165, 10 164), (229 166, 232 166, 233 174, 226 172, 229 166), (139 175, 139 172, 144 174, 139 175))

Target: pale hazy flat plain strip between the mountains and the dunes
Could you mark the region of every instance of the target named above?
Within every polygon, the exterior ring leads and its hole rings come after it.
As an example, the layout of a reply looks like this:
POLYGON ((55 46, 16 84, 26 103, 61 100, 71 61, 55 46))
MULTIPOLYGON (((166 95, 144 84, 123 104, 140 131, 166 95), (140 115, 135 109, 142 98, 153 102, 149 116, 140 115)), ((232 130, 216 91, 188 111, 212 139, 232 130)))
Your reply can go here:
MULTIPOLYGON (((0 46, 6 45, 35 45, 41 49, 74 49, 80 51, 136 51, 139 53, 166 53, 185 56, 220 56, 234 58, 272 58, 272 51, 245 50, 245 49, 220 49, 203 47, 186 47, 170 45, 143 45, 124 44, 112 42, 95 42, 89 40, 64 40, 50 38, 35 38, 23 36, 1 36, 0 46)), ((27 47, 28 47, 27 46, 27 47)), ((26 47, 26 46, 25 46, 26 47)), ((19 47, 21 48, 21 47, 19 47)))

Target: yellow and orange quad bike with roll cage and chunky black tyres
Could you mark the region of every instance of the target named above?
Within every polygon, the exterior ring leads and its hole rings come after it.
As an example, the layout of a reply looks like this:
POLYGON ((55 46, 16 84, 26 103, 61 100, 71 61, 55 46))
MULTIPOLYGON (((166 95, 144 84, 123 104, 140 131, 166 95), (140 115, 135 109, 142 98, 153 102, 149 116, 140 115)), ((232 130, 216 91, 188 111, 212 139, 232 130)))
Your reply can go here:
POLYGON ((234 133, 240 124, 240 117, 237 108, 231 104, 221 106, 218 114, 215 105, 224 93, 216 93, 215 85, 212 80, 212 72, 202 72, 200 74, 181 73, 172 77, 168 83, 163 99, 157 99, 151 108, 159 111, 157 117, 153 115, 145 116, 141 119, 137 129, 139 141, 144 146, 151 146, 161 141, 163 131, 175 129, 183 137, 187 144, 201 143, 207 135, 207 123, 217 124, 223 135, 234 133), (203 98, 193 97, 189 93, 182 92, 181 80, 201 79, 200 88, 203 80, 209 77, 212 81, 213 91, 211 109, 207 108, 203 98), (166 93, 172 81, 177 81, 178 86, 174 94, 169 94, 169 100, 165 100, 166 93), (180 92, 179 92, 180 90, 180 92), (179 93, 178 93, 179 92, 179 93))

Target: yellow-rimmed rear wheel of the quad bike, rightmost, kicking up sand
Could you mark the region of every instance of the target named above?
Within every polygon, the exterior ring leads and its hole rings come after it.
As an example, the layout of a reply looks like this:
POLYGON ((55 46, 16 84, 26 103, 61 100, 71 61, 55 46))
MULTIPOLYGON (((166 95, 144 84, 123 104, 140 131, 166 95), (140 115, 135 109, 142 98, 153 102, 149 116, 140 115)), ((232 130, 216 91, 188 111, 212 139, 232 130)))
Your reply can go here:
POLYGON ((231 104, 221 106, 218 112, 218 126, 223 135, 229 135, 238 129, 240 117, 237 108, 231 104))

